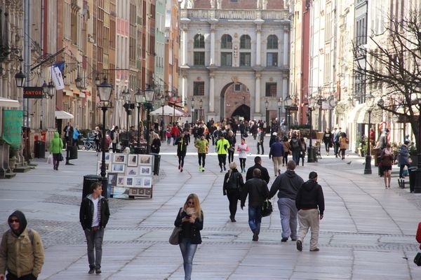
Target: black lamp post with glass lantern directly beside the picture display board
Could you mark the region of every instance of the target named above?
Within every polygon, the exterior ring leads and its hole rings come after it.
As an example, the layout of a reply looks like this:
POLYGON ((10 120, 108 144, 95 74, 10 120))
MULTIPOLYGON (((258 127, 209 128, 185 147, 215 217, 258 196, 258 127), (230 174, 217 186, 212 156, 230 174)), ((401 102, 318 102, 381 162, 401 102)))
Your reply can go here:
POLYGON ((97 86, 98 94, 100 95, 101 110, 102 110, 102 158, 101 158, 101 177, 102 177, 102 195, 107 197, 107 172, 105 172, 105 112, 107 112, 107 103, 111 97, 112 85, 107 83, 107 78, 97 86))

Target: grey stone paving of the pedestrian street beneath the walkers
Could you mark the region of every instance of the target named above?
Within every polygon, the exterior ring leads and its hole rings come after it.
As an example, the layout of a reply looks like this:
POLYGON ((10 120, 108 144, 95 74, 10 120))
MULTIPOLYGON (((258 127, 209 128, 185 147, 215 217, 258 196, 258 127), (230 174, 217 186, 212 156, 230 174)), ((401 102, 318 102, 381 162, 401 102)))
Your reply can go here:
MULTIPOLYGON (((255 141, 248 137, 248 142, 255 153, 255 141)), ((392 189, 385 190, 377 169, 363 175, 363 158, 323 155, 318 163, 298 167, 304 179, 312 170, 319 173, 326 200, 321 251, 309 252, 307 235, 303 251, 298 252, 295 242, 280 241, 276 200, 272 200, 272 216, 263 218, 258 242, 251 241, 246 208, 239 209, 236 223, 229 221, 227 198, 222 195, 224 174, 214 154, 207 156, 202 173, 189 146, 192 153, 180 173, 175 147, 163 142, 161 151, 161 172, 152 199, 110 199, 112 216, 100 276, 87 274, 86 243, 79 225, 83 175, 95 174, 95 152, 79 151, 79 159, 71 161, 75 165, 62 165, 58 171, 46 160, 36 159, 36 169, 1 180, 0 230, 8 228, 6 219, 14 209, 24 211, 29 227, 41 233, 46 247, 39 279, 184 279, 180 249, 168 244, 168 237, 179 207, 189 193, 196 193, 204 211, 204 229, 192 279, 421 279, 421 268, 413 263, 421 195, 398 188, 396 178, 392 189)), ((248 157, 248 167, 254 156, 248 157)), ((262 157, 273 174, 267 154, 262 157)))

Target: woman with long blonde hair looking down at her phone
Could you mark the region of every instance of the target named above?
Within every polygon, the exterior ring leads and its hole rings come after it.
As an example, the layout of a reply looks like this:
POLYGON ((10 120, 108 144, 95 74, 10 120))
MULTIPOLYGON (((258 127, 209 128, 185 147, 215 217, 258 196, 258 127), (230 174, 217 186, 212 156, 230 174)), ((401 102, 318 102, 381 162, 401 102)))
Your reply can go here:
POLYGON ((200 231, 203 230, 203 211, 200 207, 199 197, 191 193, 178 211, 174 225, 181 227, 180 251, 185 271, 185 280, 192 279, 193 258, 197 245, 201 244, 200 231))

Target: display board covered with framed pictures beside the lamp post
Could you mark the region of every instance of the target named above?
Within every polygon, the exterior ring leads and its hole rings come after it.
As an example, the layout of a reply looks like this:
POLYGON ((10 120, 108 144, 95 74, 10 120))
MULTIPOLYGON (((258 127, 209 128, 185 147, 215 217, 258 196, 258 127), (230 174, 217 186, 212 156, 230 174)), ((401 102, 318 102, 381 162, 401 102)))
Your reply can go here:
MULTIPOLYGON (((98 155, 98 174, 102 155, 98 155)), ((110 196, 114 198, 152 198, 153 155, 105 153, 105 169, 110 196)))

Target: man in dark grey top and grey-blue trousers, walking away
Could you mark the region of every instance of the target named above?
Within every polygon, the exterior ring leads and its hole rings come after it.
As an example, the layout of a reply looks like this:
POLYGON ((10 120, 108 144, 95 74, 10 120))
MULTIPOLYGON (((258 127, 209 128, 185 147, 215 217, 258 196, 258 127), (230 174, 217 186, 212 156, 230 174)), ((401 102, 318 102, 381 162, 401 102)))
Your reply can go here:
POLYGON ((297 207, 295 207, 295 197, 298 189, 304 180, 295 174, 295 161, 290 160, 286 164, 286 172, 276 177, 269 192, 269 199, 278 192, 278 208, 281 215, 282 242, 286 242, 288 237, 292 241, 297 241, 297 207))

